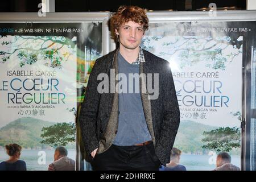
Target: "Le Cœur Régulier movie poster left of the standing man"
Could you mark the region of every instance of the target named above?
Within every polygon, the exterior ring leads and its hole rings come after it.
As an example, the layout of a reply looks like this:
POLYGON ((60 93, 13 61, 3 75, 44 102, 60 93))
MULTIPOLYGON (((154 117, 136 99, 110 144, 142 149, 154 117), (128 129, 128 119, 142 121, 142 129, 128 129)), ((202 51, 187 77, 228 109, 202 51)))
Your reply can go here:
POLYGON ((89 65, 102 54, 101 23, 5 23, 0 29, 0 160, 9 143, 22 146, 28 170, 48 170, 56 146, 76 160, 77 102, 89 65))

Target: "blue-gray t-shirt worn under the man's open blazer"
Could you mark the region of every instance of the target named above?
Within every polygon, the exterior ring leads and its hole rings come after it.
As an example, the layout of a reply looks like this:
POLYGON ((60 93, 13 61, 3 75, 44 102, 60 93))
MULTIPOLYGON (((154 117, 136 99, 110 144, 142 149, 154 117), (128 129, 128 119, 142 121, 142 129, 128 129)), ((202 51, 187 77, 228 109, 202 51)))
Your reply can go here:
POLYGON ((139 65, 128 63, 118 52, 118 73, 118 132, 113 144, 133 146, 151 140, 139 90, 139 65))

